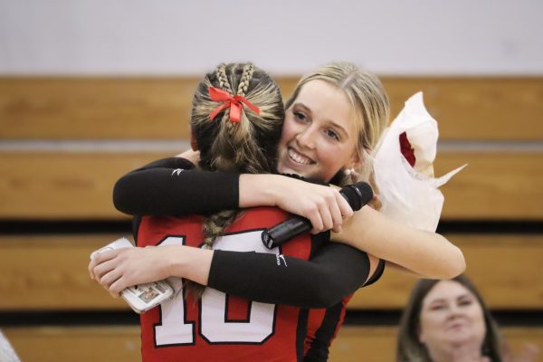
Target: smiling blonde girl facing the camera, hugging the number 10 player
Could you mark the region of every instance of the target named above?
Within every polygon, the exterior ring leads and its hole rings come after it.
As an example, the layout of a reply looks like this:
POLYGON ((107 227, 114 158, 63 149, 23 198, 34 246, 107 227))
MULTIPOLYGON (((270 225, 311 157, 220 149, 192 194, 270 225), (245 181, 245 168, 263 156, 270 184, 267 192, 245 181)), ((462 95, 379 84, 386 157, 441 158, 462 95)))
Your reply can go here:
MULTIPOLYGON (((375 147, 387 119, 386 94, 376 77, 351 64, 329 64, 300 81, 287 106, 278 149, 281 173, 333 179, 340 184, 354 175, 346 176, 346 168, 370 168, 364 156, 375 147)), ((351 216, 352 210, 338 191, 328 186, 281 175, 188 171, 190 165, 184 158, 169 158, 123 176, 114 190, 116 206, 128 214, 167 215, 278 205, 308 217, 313 232, 332 228, 340 232, 335 234, 336 239, 426 277, 452 277, 465 266, 462 252, 441 235, 395 224, 369 207, 348 219, 341 230, 342 217, 351 216), (187 171, 175 172, 177 169, 187 171), (138 199, 142 194, 146 198, 138 199)), ((316 246, 317 236, 313 238, 316 246)), ((315 248, 310 261, 305 262, 283 255, 291 243, 283 245, 280 255, 185 246, 175 256, 172 251, 167 262, 154 250, 160 248, 151 248, 146 257, 150 265, 147 274, 138 274, 137 268, 129 265, 130 260, 138 261, 132 264, 138 265, 144 262, 143 258, 129 258, 123 266, 126 272, 117 274, 116 278, 121 275, 117 281, 104 278, 100 282, 117 294, 133 283, 176 275, 251 300, 327 307, 328 310, 299 314, 299 318, 309 320, 303 348, 305 360, 326 360, 329 343, 344 316, 348 301, 344 297, 376 280, 377 262, 340 243, 315 248), (151 266, 161 264, 165 267, 151 266)), ((128 252, 111 252, 109 257, 128 252)), ((100 278, 104 268, 94 266, 91 263, 90 272, 100 278)), ((382 271, 381 263, 378 269, 382 271)), ((296 350, 300 360, 298 345, 296 350)))

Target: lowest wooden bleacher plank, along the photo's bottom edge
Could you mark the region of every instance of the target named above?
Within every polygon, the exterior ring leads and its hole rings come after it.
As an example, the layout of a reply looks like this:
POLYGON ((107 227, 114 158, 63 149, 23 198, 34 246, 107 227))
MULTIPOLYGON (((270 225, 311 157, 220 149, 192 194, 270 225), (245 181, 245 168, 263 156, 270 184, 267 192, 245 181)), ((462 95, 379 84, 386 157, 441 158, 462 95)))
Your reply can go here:
MULTIPOLYGON (((543 329, 509 327, 501 330, 514 353, 518 353, 527 341, 539 347, 543 345, 543 329)), ((133 362, 140 359, 138 326, 11 328, 4 331, 24 361, 133 362)), ((395 335, 395 327, 343 326, 330 348, 330 360, 392 362, 395 335)))

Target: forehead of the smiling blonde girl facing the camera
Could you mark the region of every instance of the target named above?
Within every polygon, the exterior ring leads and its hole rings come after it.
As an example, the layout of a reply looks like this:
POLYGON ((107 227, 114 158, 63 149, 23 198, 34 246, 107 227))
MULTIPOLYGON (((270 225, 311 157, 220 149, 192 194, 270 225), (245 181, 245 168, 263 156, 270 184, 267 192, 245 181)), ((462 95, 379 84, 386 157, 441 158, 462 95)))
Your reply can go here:
POLYGON ((355 111, 347 94, 328 81, 305 83, 294 100, 297 103, 310 109, 313 119, 333 121, 345 129, 354 127, 355 111))

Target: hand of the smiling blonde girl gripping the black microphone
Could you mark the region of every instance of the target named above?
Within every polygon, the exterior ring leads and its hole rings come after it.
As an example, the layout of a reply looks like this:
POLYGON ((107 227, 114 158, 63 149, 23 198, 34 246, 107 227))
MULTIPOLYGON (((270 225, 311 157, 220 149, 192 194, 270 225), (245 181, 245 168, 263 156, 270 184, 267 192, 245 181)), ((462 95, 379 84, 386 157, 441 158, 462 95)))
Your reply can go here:
POLYGON ((311 233, 332 230, 341 232, 343 221, 353 215, 347 200, 339 194, 338 188, 321 186, 287 176, 274 183, 274 205, 310 220, 311 233))

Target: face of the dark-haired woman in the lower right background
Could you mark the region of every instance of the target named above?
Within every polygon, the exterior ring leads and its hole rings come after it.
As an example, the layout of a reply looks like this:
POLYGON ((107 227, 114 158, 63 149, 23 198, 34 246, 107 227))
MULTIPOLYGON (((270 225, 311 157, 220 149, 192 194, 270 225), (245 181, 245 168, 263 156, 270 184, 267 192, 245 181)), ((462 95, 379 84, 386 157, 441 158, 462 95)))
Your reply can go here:
POLYGON ((419 340, 429 350, 470 341, 482 346, 486 327, 481 304, 457 281, 439 281, 424 297, 419 340))

